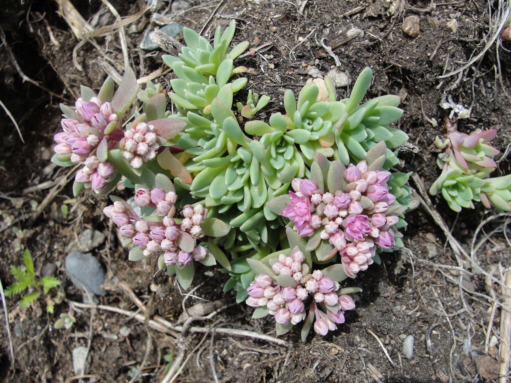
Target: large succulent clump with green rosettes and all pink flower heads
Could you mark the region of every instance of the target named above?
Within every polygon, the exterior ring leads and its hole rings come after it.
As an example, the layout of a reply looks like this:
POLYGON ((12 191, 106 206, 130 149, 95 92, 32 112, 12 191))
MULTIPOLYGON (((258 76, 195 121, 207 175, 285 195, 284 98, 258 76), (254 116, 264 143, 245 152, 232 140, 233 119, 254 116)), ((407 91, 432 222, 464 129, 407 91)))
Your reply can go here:
POLYGON ((254 318, 272 315, 278 334, 303 322, 304 340, 313 325, 325 335, 355 307, 347 294, 361 291, 340 282, 403 246, 409 174, 388 172, 408 138, 388 127, 403 114, 399 97, 359 105, 372 76, 365 68, 350 98, 337 101, 327 77, 328 101, 318 101, 308 81, 297 98, 286 90, 284 110, 260 121, 268 96, 249 90, 235 103, 247 79, 231 77, 247 68, 233 60, 248 42, 231 49, 234 32, 233 20, 211 44, 185 28, 188 46, 163 57, 177 77, 168 94, 151 81, 139 91, 130 68, 115 94, 110 78, 98 94, 82 87, 75 108, 61 106, 64 131, 52 160, 83 163, 75 194, 106 193, 122 177, 134 188, 133 198, 110 196, 104 209, 129 260, 157 257, 184 289, 196 262, 218 262, 230 276, 224 291, 255 307, 254 318), (142 111, 125 118, 135 97, 142 111))

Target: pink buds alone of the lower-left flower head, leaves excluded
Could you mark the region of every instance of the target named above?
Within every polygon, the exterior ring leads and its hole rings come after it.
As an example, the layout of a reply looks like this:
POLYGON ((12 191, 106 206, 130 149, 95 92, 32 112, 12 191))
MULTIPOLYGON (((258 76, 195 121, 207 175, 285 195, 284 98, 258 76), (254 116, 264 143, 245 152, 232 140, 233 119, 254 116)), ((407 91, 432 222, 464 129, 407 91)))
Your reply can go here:
POLYGON ((204 209, 202 205, 184 206, 181 211, 184 219, 179 224, 174 219, 176 199, 175 192, 165 193, 165 190, 160 188, 137 190, 135 204, 141 208, 149 206, 157 209, 164 216, 162 222, 146 221, 120 201, 105 207, 103 212, 119 227, 121 236, 131 238, 132 244, 143 249, 145 256, 164 252, 167 266, 190 265, 192 260, 204 259, 207 250, 203 246, 194 246, 193 251, 184 251, 179 248, 178 239, 183 233, 188 233, 191 238, 194 238, 195 243, 195 239, 204 236, 200 225, 206 217, 207 209, 204 209))

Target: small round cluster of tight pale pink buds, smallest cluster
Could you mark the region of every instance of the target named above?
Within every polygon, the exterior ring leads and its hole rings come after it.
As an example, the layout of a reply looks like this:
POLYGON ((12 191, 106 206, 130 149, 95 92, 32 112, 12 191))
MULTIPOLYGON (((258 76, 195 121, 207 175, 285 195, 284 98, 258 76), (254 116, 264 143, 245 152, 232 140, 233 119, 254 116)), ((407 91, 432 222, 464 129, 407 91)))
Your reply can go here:
POLYGON ((158 136, 154 133, 154 126, 138 123, 134 128, 124 132, 119 147, 130 166, 140 169, 144 163, 154 159, 160 146, 158 136))

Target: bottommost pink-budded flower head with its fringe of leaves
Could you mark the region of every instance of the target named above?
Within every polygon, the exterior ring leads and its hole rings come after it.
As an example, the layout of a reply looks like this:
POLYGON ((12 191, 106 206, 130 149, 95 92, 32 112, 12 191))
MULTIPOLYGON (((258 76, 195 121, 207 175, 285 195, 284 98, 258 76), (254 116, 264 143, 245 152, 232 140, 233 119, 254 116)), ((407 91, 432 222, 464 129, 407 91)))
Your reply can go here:
POLYGON ((314 330, 321 335, 344 323, 345 310, 355 308, 352 298, 346 293, 361 290, 340 289, 338 281, 346 278, 342 269, 339 270, 340 266, 337 265, 337 270, 331 267, 312 272, 310 257, 307 259, 298 246, 290 254, 274 256, 276 254, 278 252, 262 261, 247 259, 256 275, 247 288, 249 297, 245 301, 247 305, 255 307, 252 318, 272 315, 277 335, 304 322, 301 331, 304 341, 314 318, 314 330))

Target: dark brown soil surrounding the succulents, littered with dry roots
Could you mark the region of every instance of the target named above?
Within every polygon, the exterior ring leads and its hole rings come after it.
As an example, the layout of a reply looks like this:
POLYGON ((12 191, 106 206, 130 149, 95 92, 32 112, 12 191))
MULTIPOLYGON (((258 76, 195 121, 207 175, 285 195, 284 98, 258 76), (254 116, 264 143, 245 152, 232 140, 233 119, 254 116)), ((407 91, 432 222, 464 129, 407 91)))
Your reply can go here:
MULTIPOLYGON (((91 22, 95 14, 101 13, 97 28, 114 22, 99 1, 73 3, 77 3, 78 11, 91 22)), ((142 1, 121 0, 111 3, 122 16, 137 13, 145 4, 142 1)), ((373 69, 374 80, 367 97, 382 94, 401 96, 404 116, 397 127, 408 133, 412 145, 401 151, 402 161, 397 165, 398 169, 417 172, 426 187, 439 175, 435 164, 436 152, 432 148, 434 137, 445 132, 443 121, 450 110, 442 109, 439 104, 447 95, 451 95, 456 103, 467 107, 472 105, 471 118, 459 120, 459 130, 497 129, 499 136, 494 145, 504 153, 511 140, 511 111, 509 99, 505 97, 494 70, 495 50, 487 52, 468 71, 464 71, 462 77, 456 75, 443 81, 438 79, 439 75, 458 68, 462 65, 460 62, 466 62, 474 50, 479 52, 484 45, 479 41, 487 32, 489 23, 485 2, 448 2, 437 4, 430 11, 427 2, 401 0, 370 0, 365 3, 316 0, 305 3, 303 14, 298 12, 299 6, 288 1, 194 3, 195 8, 176 16, 175 21, 200 30, 212 12, 216 11, 222 16, 213 17, 207 24, 203 35, 208 36, 215 23, 225 25, 232 18, 229 16, 234 15, 238 26, 235 42, 250 41, 249 50, 254 53, 237 61, 238 65, 249 68, 246 75, 249 86, 240 92, 239 97, 243 98, 249 88, 271 97, 260 118, 281 110, 284 90, 299 90, 310 78, 307 73, 311 68, 318 68, 324 74, 332 67, 334 60, 326 53, 314 57, 314 52, 320 49, 316 40, 319 42, 321 37, 326 37, 328 45, 329 40, 338 33, 352 27, 359 28, 365 32, 364 37, 356 38, 334 52, 341 61, 340 68, 346 70, 353 80, 365 66, 373 69), (363 8, 358 12, 343 15, 360 5, 363 8), (394 11, 391 7, 395 8, 394 11), (420 17, 421 33, 416 38, 405 35, 401 30, 403 19, 410 15, 420 17), (447 20, 453 17, 459 23, 455 33, 445 26, 447 20), (431 26, 429 18, 438 20, 439 26, 431 26), (298 45, 301 39, 305 41, 298 45), (269 49, 259 53, 258 47, 265 43, 271 44, 269 49), (428 122, 428 118, 430 121, 434 119, 437 126, 428 122)), ((164 9, 158 12, 165 14, 168 2, 162 5, 164 9)), ((24 73, 45 89, 22 82, 5 44, 0 47, 0 100, 13 114, 26 142, 24 145, 20 141, 14 125, 7 116, 4 117, 0 154, 0 179, 3 180, 0 185, 0 210, 4 214, 4 222, 0 225, 3 255, 0 257, 0 278, 4 288, 11 284, 14 279, 9 273, 9 265, 19 266, 22 251, 29 249, 35 260, 36 274, 40 275, 43 266, 57 263, 56 276, 63 282, 61 287, 66 300, 56 305, 54 314, 48 315, 42 298, 33 307, 22 311, 17 308, 16 297, 7 299, 16 363, 13 370, 9 340, 3 326, 0 381, 71 381, 69 379, 74 376, 71 352, 76 346, 87 346, 89 340, 89 374, 106 382, 129 381, 131 369, 140 366, 149 345, 150 352, 139 381, 159 381, 167 363, 164 355, 175 351, 175 337, 150 329, 135 319, 105 310, 96 310, 94 314, 90 309, 77 310, 74 313, 77 322, 71 329, 53 328, 59 315, 67 313, 67 301, 82 300, 81 292, 66 279, 63 261, 67 245, 84 228, 102 231, 107 238, 92 250, 92 254, 104 263, 107 270, 106 288, 109 291, 106 296, 100 297, 100 304, 137 310, 130 297, 115 285, 116 281, 121 281, 129 285, 147 305, 147 319, 159 315, 175 323, 182 313, 183 296, 174 285, 173 277, 163 273, 156 273, 153 277, 157 270, 154 262, 144 260, 132 263, 127 260, 127 254, 112 226, 101 213, 108 203, 106 198, 84 193, 74 199, 72 183, 67 183, 42 213, 35 220, 32 218, 32 201, 43 202, 58 183, 59 177, 67 175, 69 169, 52 166, 49 161, 52 136, 60 129, 58 103, 72 103, 80 84, 98 88, 105 75, 96 62, 99 52, 89 43, 82 47, 77 58, 83 71, 73 64, 72 53, 79 41, 56 13, 56 3, 29 0, 20 5, 9 0, 3 9, 0 25, 7 44, 24 73), (58 45, 50 38, 49 31, 58 45), (57 182, 48 187, 33 188, 53 180, 57 182), (62 205, 68 207, 70 215, 67 217, 62 213, 62 205), (20 241, 19 250, 14 243, 16 235, 13 227, 27 230, 20 241), (127 327, 127 335, 124 330, 120 332, 122 327, 127 327)), ((143 31, 150 18, 151 12, 148 11, 134 24, 143 31)), ((151 54, 138 49, 142 38, 143 32, 128 35, 130 60, 138 77, 148 75, 163 65, 161 51, 151 54)), ((178 35, 177 38, 182 39, 182 36, 178 35)), ((118 34, 96 38, 95 41, 114 60, 114 66, 122 68, 123 56, 118 34)), ((510 58, 508 52, 500 51, 502 63, 510 58)), ((509 69, 504 64, 502 70, 503 82, 507 86, 509 69)), ((172 74, 164 77, 165 86, 168 87, 171 78, 172 74)), ((340 88, 338 97, 343 99, 349 92, 350 87, 340 88)), ((504 159, 496 173, 501 175, 509 171, 509 161, 504 159)), ((119 190, 120 195, 123 193, 127 195, 127 192, 119 190)), ((492 214, 484 211, 482 206, 456 214, 441 198, 435 197, 433 202, 448 226, 453 228, 454 237, 468 246, 477 225, 492 214)), ((436 264, 458 266, 450 248, 445 246, 442 231, 426 210, 420 207, 411 212, 407 215, 407 221, 409 225, 403 230, 404 242, 414 256, 436 264)), ((508 267, 510 249, 505 246, 505 240, 496 236, 493 242, 479 249, 481 267, 499 262, 508 267), (496 245, 502 246, 496 250, 496 245)), ((356 295, 357 308, 346 315, 346 323, 340 325, 338 331, 327 337, 310 335, 304 344, 299 342, 299 331, 294 329, 281 337, 293 343, 293 347, 286 349, 251 338, 216 334, 213 355, 219 381, 419 383, 448 382, 451 373, 453 381, 483 381, 484 378, 477 374, 475 368, 477 355, 488 353, 498 360, 495 347, 485 349, 485 333, 492 303, 464 294, 472 312, 464 311, 466 308, 460 300, 459 286, 449 279, 459 279, 459 271, 413 262, 413 258, 405 252, 385 253, 382 258, 382 265, 371 266, 353 281, 354 285, 363 289, 362 293, 356 295), (369 330, 379 337, 393 365, 369 330), (411 359, 402 354, 403 339, 409 334, 415 337, 411 359), (431 346, 428 346, 429 340, 431 346), (453 340, 455 347, 451 353, 453 340), (470 346, 467 347, 467 344, 470 346)), ((221 286, 227 279, 225 275, 206 268, 199 269, 199 274, 196 283, 203 284, 194 295, 211 301, 227 298, 228 302, 234 302, 230 293, 221 292, 221 286), (209 271, 214 276, 205 274, 209 271)), ((463 286, 490 295, 483 275, 475 274, 463 279, 463 286)), ((198 302, 190 297, 187 306, 198 302)), ((3 323, 3 312, 0 317, 3 323)), ((493 333, 498 333, 499 318, 497 308, 493 333)), ((275 336, 273 320, 251 319, 251 309, 244 304, 223 310, 213 318, 213 323, 275 336)), ((210 324, 194 323, 197 326, 210 324)), ((202 334, 192 333, 189 339, 191 351, 202 339, 202 334)), ((201 347, 198 349, 199 356, 190 358, 177 381, 213 381, 209 338, 201 347)))

